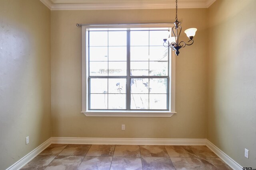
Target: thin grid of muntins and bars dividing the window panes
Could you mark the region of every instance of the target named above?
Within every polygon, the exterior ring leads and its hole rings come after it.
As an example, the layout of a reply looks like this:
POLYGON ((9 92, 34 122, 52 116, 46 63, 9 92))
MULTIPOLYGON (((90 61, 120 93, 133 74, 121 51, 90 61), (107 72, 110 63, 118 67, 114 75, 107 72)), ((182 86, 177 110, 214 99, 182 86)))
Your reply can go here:
MULTIPOLYGON (((167 30, 167 29, 166 29, 167 30)), ((102 30, 97 30, 97 31, 102 31, 102 30)), ((109 31, 124 31, 124 30, 106 30, 107 32, 109 31)), ((126 43, 126 46, 90 46, 90 31, 88 31, 88 68, 89 68, 89 76, 88 76, 88 82, 89 82, 89 88, 88 88, 88 106, 89 106, 89 110, 115 110, 115 111, 122 111, 122 110, 131 110, 131 111, 167 111, 169 110, 169 96, 170 96, 170 89, 169 89, 169 84, 170 84, 170 49, 168 48, 168 55, 167 55, 167 62, 168 62, 168 74, 167 76, 149 76, 150 74, 150 67, 149 67, 149 64, 150 62, 161 62, 161 61, 150 61, 150 59, 148 59, 148 76, 130 76, 130 47, 148 47, 148 53, 150 53, 150 47, 161 47, 160 45, 150 45, 150 31, 164 31, 163 29, 155 29, 155 30, 132 30, 132 31, 148 31, 148 46, 146 45, 141 45, 141 46, 138 46, 138 45, 130 45, 130 32, 131 30, 130 29, 127 29, 126 31, 126 35, 127 35, 127 43, 126 43), (127 59, 126 59, 126 64, 127 64, 127 75, 126 76, 90 76, 90 47, 127 47, 127 59), (126 109, 91 109, 90 108, 90 79, 91 78, 126 78, 126 109), (167 85, 166 85, 166 109, 130 109, 130 105, 131 105, 131 91, 130 91, 130 80, 131 78, 166 78, 167 79, 167 85)), ((108 39, 109 41, 109 39, 108 39)), ((109 52, 109 49, 108 49, 108 52, 109 52)), ((165 60, 164 60, 165 61, 165 60)), ((162 61, 162 62, 164 62, 162 61)), ((94 62, 97 62, 97 61, 94 61, 94 62)), ((100 61, 99 61, 100 62, 100 61)), ((109 64, 109 54, 108 54, 108 64, 109 64)), ((112 62, 115 62, 115 61, 112 61, 112 62)), ((120 61, 119 61, 120 62, 120 61)), ((138 61, 136 61, 138 62, 138 61)), ((166 61, 165 61, 166 62, 166 61)), ((109 68, 109 67, 108 67, 109 68)), ((108 71, 108 74, 109 74, 109 71, 108 71)), ((149 82, 148 82, 149 83, 149 82)), ((148 85, 149 86, 149 85, 148 85)), ((107 93, 109 94, 109 93, 107 93)), ((134 93, 136 94, 136 93, 134 93)), ((148 107, 150 107, 149 105, 149 102, 150 102, 150 94, 154 94, 154 93, 149 93, 148 92, 148 107)), ((160 94, 160 93, 156 93, 156 94, 160 94)), ((162 94, 162 93, 161 93, 162 94)))

